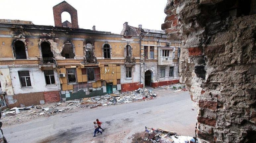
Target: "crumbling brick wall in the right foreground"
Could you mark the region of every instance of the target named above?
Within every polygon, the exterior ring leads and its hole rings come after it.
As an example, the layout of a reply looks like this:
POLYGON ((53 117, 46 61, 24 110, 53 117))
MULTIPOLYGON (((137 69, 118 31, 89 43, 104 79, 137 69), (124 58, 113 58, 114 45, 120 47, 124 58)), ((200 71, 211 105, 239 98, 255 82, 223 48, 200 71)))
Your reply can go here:
POLYGON ((255 0, 168 0, 162 29, 182 38, 180 82, 202 143, 256 141, 255 0))

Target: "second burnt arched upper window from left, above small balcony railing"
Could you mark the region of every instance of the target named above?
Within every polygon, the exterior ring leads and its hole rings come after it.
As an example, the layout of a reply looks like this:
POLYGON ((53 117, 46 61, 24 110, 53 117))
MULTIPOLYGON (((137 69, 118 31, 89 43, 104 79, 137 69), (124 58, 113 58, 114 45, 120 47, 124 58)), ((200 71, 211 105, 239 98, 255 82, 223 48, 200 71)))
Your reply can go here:
POLYGON ((48 42, 41 43, 41 50, 42 50, 42 58, 44 63, 54 63, 53 61, 53 53, 51 51, 51 46, 48 42))

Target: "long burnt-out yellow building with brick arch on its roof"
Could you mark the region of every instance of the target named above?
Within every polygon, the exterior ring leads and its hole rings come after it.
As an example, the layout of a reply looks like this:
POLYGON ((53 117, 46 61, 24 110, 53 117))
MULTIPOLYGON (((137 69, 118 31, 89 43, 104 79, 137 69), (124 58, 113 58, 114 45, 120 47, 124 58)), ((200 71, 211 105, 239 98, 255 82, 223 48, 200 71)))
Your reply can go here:
POLYGON ((0 89, 9 107, 72 100, 143 87, 140 36, 80 29, 77 11, 53 7, 55 26, 0 20, 0 89), (67 11, 71 22, 61 23, 67 11))

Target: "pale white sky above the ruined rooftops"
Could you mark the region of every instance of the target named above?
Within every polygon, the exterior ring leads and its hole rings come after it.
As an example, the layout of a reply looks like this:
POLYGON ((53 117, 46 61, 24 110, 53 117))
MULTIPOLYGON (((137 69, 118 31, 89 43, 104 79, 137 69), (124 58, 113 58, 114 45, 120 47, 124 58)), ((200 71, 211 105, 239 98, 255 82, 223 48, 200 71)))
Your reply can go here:
MULTIPOLYGON (((32 21, 54 26, 52 7, 63 0, 0 0, 0 19, 32 21)), ((167 0, 65 0, 76 8, 79 28, 120 34, 123 24, 161 30, 167 0)), ((63 12, 62 22, 70 21, 63 12)), ((71 21, 70 21, 71 22, 71 21)))

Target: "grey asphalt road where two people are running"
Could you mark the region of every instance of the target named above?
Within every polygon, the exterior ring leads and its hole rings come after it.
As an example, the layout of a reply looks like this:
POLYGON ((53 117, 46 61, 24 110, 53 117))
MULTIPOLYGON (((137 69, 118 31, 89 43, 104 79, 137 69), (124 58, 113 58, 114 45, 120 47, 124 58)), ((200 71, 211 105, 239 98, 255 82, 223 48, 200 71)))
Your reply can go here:
POLYGON ((189 92, 153 89, 153 100, 78 109, 75 112, 35 119, 11 127, 3 126, 8 143, 130 143, 131 135, 154 129, 195 135, 196 110, 189 92), (105 131, 93 137, 93 121, 99 118, 105 131))

